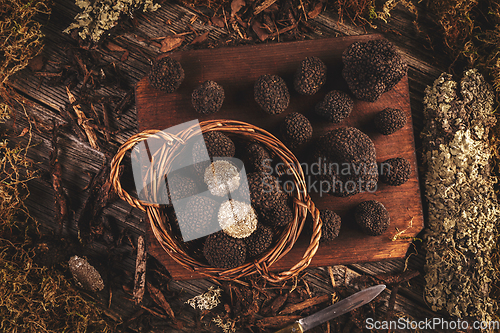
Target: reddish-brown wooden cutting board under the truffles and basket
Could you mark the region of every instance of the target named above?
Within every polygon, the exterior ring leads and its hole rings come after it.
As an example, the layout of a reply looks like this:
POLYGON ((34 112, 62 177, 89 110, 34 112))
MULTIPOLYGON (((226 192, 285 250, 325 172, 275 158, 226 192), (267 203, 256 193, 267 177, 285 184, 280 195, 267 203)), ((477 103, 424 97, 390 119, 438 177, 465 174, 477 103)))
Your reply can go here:
MULTIPOLYGON (((137 83, 139 128, 163 130, 193 119, 237 119, 278 135, 279 123, 291 112, 300 112, 309 118, 314 128, 314 138, 336 127, 357 127, 373 140, 378 162, 393 157, 408 159, 412 166, 411 178, 398 187, 379 183, 375 193, 366 192, 348 198, 312 194, 318 208, 337 212, 342 217, 343 224, 339 237, 333 243, 319 247, 311 267, 403 258, 411 242, 410 238, 416 236, 424 227, 408 78, 404 77, 376 102, 355 101, 351 116, 341 124, 327 123, 313 112, 315 104, 322 100, 328 91, 349 91, 341 76, 342 52, 353 42, 376 38, 381 36, 363 35, 172 53, 170 56, 180 61, 184 68, 185 80, 176 92, 170 94, 152 88, 147 78, 137 83), (328 67, 325 86, 313 96, 299 95, 293 90, 292 84, 297 66, 307 56, 319 57, 328 67), (289 87, 290 105, 280 115, 267 115, 253 99, 253 84, 263 74, 277 74, 289 87), (221 84, 226 95, 222 109, 208 116, 196 113, 191 105, 191 92, 205 80, 221 84), (373 116, 386 107, 403 110, 409 119, 403 129, 389 136, 377 134, 372 125, 373 116), (389 229, 376 237, 364 235, 351 217, 352 209, 358 203, 372 199, 382 202, 391 216, 389 229), (392 241, 391 238, 398 230, 404 230, 403 239, 392 241)), ((308 150, 310 149, 305 147, 294 153, 299 161, 305 161, 308 150)), ((147 244, 148 252, 165 265, 175 280, 203 278, 171 259, 160 247, 150 228, 147 244)), ((273 265, 273 269, 283 271, 292 267, 302 257, 308 244, 309 238, 301 237, 294 248, 273 265)))

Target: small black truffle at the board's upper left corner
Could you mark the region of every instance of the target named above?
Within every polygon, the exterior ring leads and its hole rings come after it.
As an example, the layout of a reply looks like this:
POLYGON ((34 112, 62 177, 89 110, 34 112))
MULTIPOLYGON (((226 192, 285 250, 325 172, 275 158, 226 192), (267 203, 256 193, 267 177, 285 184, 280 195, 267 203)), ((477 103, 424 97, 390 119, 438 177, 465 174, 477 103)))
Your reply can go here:
POLYGON ((177 60, 164 57, 153 64, 148 78, 154 88, 171 93, 184 80, 184 70, 177 60))

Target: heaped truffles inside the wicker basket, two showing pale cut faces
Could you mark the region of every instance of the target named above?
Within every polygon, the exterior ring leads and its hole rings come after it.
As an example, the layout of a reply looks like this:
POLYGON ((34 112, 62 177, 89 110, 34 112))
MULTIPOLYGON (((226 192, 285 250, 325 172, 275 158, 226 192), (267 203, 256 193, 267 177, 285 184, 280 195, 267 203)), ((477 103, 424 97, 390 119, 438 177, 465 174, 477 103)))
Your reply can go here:
POLYGON ((289 195, 270 174, 270 154, 261 144, 241 145, 211 131, 192 145, 192 158, 195 169, 205 168, 201 184, 182 173, 168 178, 169 194, 177 200, 169 221, 172 230, 180 232, 186 250, 202 255, 210 266, 230 269, 258 257, 271 247, 275 234, 294 220, 289 195), (245 152, 245 164, 236 165, 231 159, 238 157, 236 147, 248 149, 252 158, 245 152), (245 179, 241 171, 247 166, 250 172, 245 179), (191 246, 198 243, 203 244, 199 254, 191 246))

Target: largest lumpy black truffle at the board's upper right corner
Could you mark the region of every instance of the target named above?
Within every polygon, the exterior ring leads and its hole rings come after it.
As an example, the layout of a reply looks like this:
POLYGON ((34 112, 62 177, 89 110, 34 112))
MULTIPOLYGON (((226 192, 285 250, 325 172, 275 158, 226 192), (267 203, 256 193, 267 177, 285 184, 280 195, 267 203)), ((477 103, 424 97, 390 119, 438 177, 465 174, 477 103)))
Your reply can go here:
POLYGON ((374 102, 405 75, 407 65, 385 39, 355 42, 342 54, 342 76, 357 99, 374 102))

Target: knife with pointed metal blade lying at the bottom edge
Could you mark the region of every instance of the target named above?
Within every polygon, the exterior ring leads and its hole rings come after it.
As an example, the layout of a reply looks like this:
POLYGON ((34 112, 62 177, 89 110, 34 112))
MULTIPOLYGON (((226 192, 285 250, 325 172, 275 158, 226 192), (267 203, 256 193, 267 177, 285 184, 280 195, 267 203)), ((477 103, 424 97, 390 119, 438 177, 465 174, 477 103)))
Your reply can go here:
POLYGON ((359 291, 343 300, 324 308, 308 317, 299 319, 291 326, 282 328, 276 333, 302 333, 310 330, 325 321, 341 316, 349 311, 352 311, 362 305, 371 302, 385 289, 384 284, 379 284, 370 288, 359 291))

